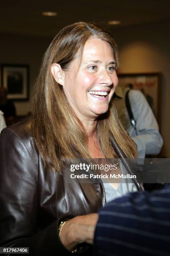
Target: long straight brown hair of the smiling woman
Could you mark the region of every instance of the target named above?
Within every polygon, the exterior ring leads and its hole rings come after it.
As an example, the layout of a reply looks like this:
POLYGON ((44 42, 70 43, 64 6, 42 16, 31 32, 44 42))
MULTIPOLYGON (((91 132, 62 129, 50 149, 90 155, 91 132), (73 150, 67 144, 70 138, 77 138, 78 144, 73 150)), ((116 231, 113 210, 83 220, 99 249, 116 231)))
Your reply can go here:
MULTIPOLYGON (((78 53, 80 56, 88 38, 107 41, 114 52, 118 66, 117 46, 110 33, 91 23, 74 23, 63 28, 45 52, 40 74, 32 97, 32 134, 45 164, 60 172, 63 159, 90 158, 87 150, 87 133, 67 102, 62 86, 51 74, 53 63, 63 70, 78 53)), ((117 157, 112 139, 117 141, 127 158, 135 158, 135 143, 122 127, 112 102, 107 113, 98 118, 97 141, 106 158, 117 157)))

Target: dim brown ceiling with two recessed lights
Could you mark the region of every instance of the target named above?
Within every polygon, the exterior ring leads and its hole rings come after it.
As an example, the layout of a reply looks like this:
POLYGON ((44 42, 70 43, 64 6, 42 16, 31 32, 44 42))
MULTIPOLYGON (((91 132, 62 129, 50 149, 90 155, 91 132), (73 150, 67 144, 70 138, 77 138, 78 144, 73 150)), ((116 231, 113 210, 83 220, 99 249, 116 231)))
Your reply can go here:
POLYGON ((1 0, 0 32, 53 37, 61 28, 77 21, 120 25, 163 23, 170 20, 169 0, 1 0), (42 16, 55 11, 56 17, 42 16))

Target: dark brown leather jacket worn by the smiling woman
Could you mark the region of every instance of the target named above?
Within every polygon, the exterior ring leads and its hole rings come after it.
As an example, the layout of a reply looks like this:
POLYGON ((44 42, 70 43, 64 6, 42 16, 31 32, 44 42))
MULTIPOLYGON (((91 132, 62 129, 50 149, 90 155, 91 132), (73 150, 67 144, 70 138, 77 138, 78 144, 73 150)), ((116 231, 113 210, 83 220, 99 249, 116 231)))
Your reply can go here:
MULTIPOLYGON (((119 150, 119 149, 118 149, 119 150)), ((44 168, 30 132, 30 118, 0 135, 0 246, 29 247, 30 255, 70 255, 57 235, 58 222, 105 204, 102 182, 67 182, 44 168)), ((87 245, 81 255, 90 255, 87 245)))

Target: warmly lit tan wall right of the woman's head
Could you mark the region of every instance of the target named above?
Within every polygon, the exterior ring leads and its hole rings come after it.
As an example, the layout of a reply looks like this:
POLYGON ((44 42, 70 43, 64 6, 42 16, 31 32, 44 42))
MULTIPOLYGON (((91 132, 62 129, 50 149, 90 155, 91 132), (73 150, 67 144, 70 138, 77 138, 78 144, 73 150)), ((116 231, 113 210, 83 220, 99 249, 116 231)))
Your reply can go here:
POLYGON ((161 72, 162 155, 170 157, 170 22, 112 31, 120 49, 120 73, 161 72))

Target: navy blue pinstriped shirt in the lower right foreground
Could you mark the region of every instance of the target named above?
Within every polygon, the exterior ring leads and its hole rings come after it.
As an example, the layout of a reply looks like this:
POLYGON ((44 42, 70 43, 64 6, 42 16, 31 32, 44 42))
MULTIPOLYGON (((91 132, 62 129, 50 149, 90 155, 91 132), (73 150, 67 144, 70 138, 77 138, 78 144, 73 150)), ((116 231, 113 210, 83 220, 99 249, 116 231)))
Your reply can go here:
POLYGON ((117 198, 99 212, 94 255, 170 256, 170 186, 117 198))

